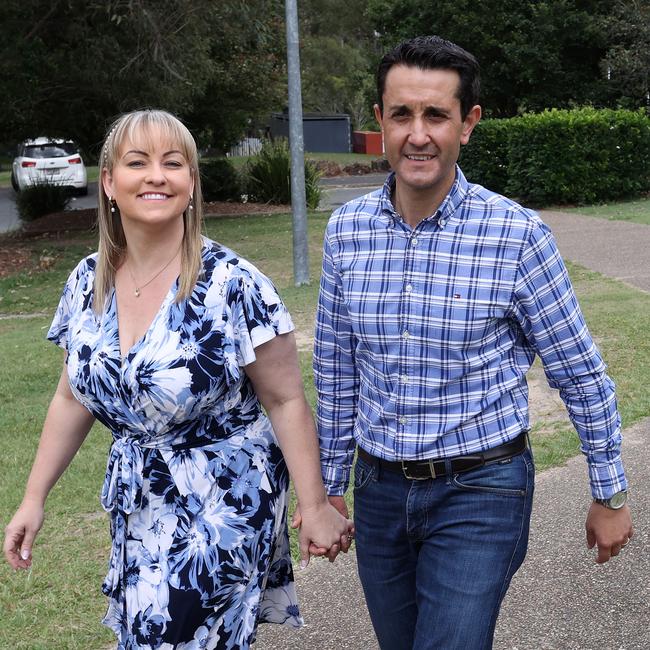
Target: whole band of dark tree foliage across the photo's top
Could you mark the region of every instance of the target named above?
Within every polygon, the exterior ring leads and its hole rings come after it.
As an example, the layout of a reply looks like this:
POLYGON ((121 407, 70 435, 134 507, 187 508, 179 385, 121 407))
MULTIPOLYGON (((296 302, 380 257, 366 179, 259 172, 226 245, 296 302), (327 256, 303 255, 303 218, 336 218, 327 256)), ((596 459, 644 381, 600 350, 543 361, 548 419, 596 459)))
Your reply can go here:
MULTIPOLYGON (((179 114, 223 153, 287 104, 284 0, 3 0, 0 143, 61 135, 88 157, 119 113, 179 114)), ((301 0, 305 111, 373 124, 374 71, 437 33, 482 66, 487 117, 650 105, 648 0, 301 0)), ((487 132, 486 132, 487 133, 487 132)))

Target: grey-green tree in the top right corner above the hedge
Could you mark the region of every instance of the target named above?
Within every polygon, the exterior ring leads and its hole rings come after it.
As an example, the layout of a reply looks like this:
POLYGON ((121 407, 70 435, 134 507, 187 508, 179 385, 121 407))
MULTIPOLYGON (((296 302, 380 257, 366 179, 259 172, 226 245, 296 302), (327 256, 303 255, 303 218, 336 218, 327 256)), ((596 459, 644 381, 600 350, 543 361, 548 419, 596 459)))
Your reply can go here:
POLYGON ((650 106, 650 5, 647 0, 618 0, 604 28, 612 47, 603 71, 626 107, 650 106))

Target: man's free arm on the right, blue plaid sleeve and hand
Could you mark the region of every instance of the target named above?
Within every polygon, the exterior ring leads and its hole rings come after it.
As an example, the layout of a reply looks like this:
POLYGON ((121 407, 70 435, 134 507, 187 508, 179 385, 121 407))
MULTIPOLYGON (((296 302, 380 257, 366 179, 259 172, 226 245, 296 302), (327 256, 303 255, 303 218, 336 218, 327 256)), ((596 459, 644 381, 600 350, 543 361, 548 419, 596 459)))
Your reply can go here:
MULTIPOLYGON (((515 317, 542 360, 549 385, 560 392, 580 436, 594 498, 627 489, 621 461, 621 423, 614 383, 587 329, 571 281, 549 229, 539 224, 523 252, 515 287, 515 317)), ((593 504, 587 543, 598 562, 617 555, 632 536, 629 508, 593 504)))

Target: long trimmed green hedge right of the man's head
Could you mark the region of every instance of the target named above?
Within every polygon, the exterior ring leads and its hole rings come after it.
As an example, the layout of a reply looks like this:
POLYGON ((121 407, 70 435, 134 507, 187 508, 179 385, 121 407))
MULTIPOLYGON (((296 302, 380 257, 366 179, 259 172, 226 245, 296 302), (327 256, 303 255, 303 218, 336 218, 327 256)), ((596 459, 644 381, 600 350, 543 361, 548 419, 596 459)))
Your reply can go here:
POLYGON ((581 108, 485 120, 460 164, 470 181, 533 205, 639 196, 650 190, 650 118, 581 108))

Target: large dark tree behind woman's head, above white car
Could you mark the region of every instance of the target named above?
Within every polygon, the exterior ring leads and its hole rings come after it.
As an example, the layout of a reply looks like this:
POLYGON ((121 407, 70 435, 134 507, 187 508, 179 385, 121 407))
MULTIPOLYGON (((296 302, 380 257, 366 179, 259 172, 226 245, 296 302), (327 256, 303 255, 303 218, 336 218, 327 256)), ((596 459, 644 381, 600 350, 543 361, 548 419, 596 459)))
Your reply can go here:
POLYGON ((263 103, 281 61, 277 47, 265 49, 277 5, 3 0, 0 141, 65 135, 92 153, 114 117, 152 106, 185 118, 203 144, 214 136, 225 146, 263 103))

